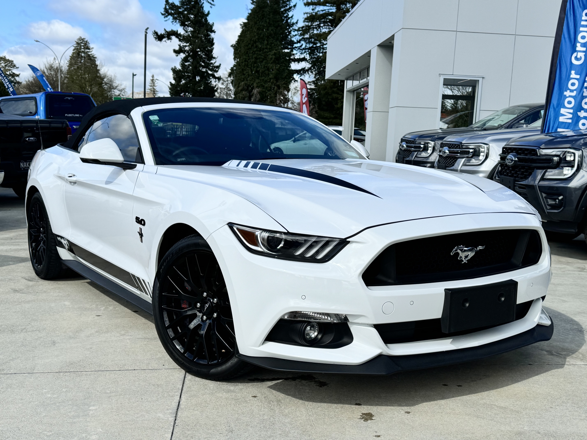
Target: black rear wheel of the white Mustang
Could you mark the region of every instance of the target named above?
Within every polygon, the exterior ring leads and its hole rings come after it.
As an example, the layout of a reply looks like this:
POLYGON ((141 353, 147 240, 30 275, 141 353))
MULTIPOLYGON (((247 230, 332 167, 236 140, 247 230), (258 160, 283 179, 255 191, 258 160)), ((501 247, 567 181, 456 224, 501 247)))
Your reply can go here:
POLYGON ((43 280, 58 278, 62 263, 57 251, 49 216, 38 192, 32 196, 26 209, 29 256, 35 275, 43 280))

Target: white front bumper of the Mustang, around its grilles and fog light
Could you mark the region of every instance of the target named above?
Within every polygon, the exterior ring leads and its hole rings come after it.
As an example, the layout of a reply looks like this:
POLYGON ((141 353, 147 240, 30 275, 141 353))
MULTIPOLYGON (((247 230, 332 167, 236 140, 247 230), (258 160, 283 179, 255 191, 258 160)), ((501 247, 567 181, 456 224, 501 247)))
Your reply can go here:
POLYGON ((537 325, 542 303, 540 298, 546 295, 551 273, 550 257, 546 251, 548 243, 534 215, 467 214, 420 219, 366 229, 349 241, 349 245, 335 258, 316 264, 254 255, 244 249, 228 226, 212 233, 208 242, 227 282, 241 356, 361 365, 380 355, 394 358, 419 356, 485 346, 510 339, 537 325), (363 283, 361 276, 366 267, 394 242, 502 228, 537 229, 541 233, 542 249, 545 250, 539 262, 498 275, 451 282, 379 287, 367 287, 363 283), (374 327, 374 324, 438 319, 443 311, 444 289, 481 286, 510 279, 518 282, 518 303, 534 300, 523 319, 463 336, 399 344, 384 344, 374 327), (382 306, 386 302, 394 304, 390 314, 383 312, 382 306), (353 342, 340 348, 318 348, 265 341, 279 318, 295 310, 346 314, 353 342))

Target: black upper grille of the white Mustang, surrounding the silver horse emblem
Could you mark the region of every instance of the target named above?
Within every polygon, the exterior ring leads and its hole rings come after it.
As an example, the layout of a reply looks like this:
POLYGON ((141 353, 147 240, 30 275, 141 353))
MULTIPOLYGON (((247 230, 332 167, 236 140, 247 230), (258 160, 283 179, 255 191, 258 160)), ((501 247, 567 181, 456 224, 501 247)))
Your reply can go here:
POLYGON ((391 286, 477 278, 534 265, 541 255, 540 236, 534 230, 453 233, 389 246, 365 270, 363 281, 367 286, 391 286), (463 262, 457 246, 485 247, 463 262))

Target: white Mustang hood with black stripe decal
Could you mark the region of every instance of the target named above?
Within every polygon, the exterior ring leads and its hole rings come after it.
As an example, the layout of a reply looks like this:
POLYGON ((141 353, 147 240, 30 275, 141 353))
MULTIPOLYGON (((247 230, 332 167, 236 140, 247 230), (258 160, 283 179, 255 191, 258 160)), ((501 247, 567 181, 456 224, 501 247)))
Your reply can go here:
POLYGON ((389 162, 234 160, 222 167, 165 165, 157 174, 238 194, 289 232, 338 238, 411 219, 484 212, 535 214, 524 199, 496 182, 389 162))

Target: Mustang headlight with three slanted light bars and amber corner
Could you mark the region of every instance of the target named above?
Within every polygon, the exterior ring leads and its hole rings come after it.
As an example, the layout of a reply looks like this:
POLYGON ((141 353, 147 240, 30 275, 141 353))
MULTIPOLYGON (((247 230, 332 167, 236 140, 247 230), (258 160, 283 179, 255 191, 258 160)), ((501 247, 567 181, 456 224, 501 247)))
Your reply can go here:
POLYGON ((284 260, 324 263, 348 243, 340 238, 264 231, 234 224, 228 226, 249 252, 284 260))

